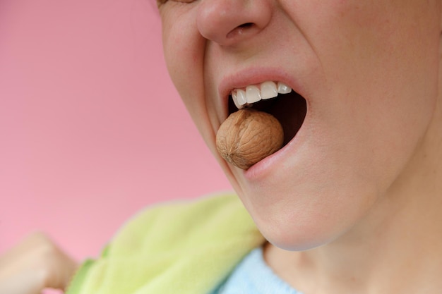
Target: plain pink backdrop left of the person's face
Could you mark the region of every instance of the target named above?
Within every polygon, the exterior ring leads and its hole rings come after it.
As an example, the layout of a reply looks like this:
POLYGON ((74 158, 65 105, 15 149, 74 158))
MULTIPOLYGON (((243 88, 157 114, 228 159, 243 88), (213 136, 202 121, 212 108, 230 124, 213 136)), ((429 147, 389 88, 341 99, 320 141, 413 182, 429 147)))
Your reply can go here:
POLYGON ((229 190, 169 80, 155 0, 0 1, 0 252, 96 256, 154 202, 229 190))

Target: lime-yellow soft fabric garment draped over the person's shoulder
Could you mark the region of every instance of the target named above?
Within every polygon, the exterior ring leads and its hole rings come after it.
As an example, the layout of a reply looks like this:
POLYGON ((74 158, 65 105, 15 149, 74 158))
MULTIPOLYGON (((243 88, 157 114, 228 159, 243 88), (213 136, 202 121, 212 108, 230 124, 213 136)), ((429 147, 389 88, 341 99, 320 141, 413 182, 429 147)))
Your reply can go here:
POLYGON ((208 294, 264 241, 236 195, 152 207, 80 267, 66 294, 208 294))

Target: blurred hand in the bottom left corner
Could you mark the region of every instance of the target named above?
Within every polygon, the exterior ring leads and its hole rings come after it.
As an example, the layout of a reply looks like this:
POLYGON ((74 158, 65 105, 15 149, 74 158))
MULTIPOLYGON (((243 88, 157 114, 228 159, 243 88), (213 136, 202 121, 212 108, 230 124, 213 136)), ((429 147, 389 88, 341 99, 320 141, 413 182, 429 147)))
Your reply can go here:
POLYGON ((40 294, 64 290, 78 264, 42 233, 34 233, 0 256, 0 293, 40 294))

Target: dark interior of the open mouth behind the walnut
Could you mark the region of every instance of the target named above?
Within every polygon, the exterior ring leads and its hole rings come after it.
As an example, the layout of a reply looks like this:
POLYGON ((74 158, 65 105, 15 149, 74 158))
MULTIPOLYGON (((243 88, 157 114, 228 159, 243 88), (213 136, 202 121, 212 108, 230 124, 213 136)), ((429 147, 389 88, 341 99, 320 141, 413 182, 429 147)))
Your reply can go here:
MULTIPOLYGON (((256 89, 259 90, 257 86, 252 86, 253 90, 256 92, 256 89)), ((262 91, 262 90, 261 90, 262 91)), ((246 90, 244 90, 246 92, 246 90)), ((271 98, 256 98, 252 101, 258 100, 256 102, 245 102, 246 98, 244 96, 244 104, 239 102, 238 98, 234 98, 232 95, 237 95, 241 93, 231 92, 229 95, 229 114, 238 111, 238 108, 251 107, 258 111, 264 111, 268 114, 271 114, 277 118, 277 120, 282 125, 282 129, 284 130, 284 143, 283 146, 287 145, 287 143, 294 138, 294 136, 298 133, 301 128, 302 123, 304 123, 304 119, 307 113, 307 104, 306 99, 302 97, 297 92, 294 92, 290 88, 287 88, 285 91, 288 93, 280 93, 281 91, 275 92, 275 97, 271 98), (239 105, 241 104, 241 105, 239 105)), ((257 95, 259 95, 258 93, 257 95)), ((239 98, 241 100, 241 98, 239 98)))

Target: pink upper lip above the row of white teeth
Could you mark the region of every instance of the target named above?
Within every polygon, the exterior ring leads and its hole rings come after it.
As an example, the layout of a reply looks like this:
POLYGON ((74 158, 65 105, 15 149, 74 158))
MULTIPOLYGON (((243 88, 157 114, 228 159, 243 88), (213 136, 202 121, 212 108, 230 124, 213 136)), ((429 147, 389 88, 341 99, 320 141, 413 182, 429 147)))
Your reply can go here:
POLYGON ((225 75, 218 87, 218 94, 222 99, 223 113, 225 118, 228 116, 229 94, 234 89, 243 88, 248 85, 257 85, 261 82, 273 80, 274 82, 284 82, 292 87, 295 92, 300 91, 296 78, 289 73, 282 71, 281 68, 248 68, 246 70, 237 71, 231 75, 225 75))

